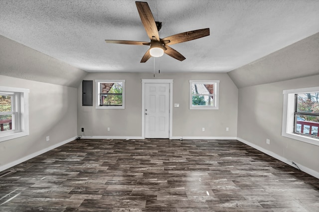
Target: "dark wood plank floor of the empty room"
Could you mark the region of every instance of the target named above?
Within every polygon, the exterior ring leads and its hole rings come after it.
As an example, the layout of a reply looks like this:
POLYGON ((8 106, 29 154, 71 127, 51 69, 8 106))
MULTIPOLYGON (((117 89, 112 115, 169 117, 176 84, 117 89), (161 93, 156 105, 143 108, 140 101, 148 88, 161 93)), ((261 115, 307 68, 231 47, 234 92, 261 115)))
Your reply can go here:
POLYGON ((319 179, 235 140, 81 139, 2 175, 1 212, 319 211, 319 179))

